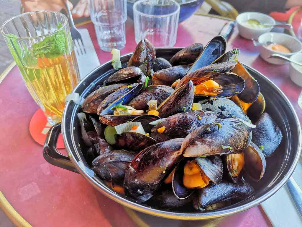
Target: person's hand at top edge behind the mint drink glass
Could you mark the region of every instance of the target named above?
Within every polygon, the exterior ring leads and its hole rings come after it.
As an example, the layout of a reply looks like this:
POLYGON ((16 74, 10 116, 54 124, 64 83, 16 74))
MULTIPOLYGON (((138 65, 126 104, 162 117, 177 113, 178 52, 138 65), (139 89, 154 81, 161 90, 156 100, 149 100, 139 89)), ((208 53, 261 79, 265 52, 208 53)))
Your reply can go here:
MULTIPOLYGON (((33 12, 39 10, 61 11, 65 9, 67 0, 21 0, 24 12, 33 12)), ((73 8, 71 2, 68 2, 70 9, 73 8)))

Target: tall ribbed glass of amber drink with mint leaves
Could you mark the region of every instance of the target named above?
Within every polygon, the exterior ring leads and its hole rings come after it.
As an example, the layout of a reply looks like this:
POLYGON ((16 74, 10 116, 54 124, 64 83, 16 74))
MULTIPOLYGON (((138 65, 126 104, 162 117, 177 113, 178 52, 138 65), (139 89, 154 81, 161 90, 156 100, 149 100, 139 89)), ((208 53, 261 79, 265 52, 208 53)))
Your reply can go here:
POLYGON ((60 122, 64 99, 79 82, 66 16, 50 11, 24 13, 5 21, 0 31, 48 122, 60 122))

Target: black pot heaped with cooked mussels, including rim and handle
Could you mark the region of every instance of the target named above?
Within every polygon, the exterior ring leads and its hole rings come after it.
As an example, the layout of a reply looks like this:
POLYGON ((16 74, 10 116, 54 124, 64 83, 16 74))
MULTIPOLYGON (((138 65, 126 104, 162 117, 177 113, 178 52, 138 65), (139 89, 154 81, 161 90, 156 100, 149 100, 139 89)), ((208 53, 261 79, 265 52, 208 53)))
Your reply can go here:
POLYGON ((107 62, 75 87, 44 158, 150 215, 213 219, 259 205, 293 173, 301 129, 282 91, 239 54, 221 36, 186 48, 142 40, 119 70, 107 62))

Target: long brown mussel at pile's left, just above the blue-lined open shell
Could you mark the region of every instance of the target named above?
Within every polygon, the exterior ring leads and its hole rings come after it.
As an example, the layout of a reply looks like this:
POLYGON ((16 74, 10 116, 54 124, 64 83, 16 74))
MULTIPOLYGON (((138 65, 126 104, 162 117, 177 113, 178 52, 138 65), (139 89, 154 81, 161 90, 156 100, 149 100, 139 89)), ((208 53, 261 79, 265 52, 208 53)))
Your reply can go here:
POLYGON ((104 98, 106 98, 117 89, 125 87, 126 85, 127 84, 112 84, 98 88, 85 98, 82 104, 82 110, 86 113, 96 113, 98 106, 102 103, 104 98))

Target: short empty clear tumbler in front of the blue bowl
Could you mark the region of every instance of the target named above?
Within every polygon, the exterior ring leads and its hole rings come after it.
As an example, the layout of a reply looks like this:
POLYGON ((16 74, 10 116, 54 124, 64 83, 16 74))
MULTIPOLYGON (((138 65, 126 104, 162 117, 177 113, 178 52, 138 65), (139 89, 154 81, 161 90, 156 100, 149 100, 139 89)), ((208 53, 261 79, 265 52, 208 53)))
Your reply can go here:
POLYGON ((172 0, 141 0, 133 5, 135 41, 147 38, 156 47, 176 43, 180 6, 172 0))

